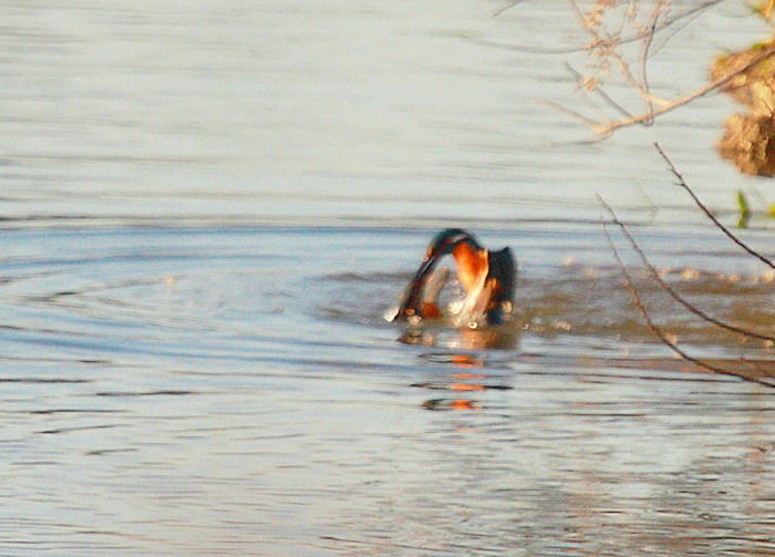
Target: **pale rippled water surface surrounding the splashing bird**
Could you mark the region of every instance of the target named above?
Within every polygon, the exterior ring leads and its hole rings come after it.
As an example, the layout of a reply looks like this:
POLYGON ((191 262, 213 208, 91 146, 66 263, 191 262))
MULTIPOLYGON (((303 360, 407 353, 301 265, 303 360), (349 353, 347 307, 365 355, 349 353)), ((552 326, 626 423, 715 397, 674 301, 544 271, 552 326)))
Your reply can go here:
MULTIPOLYGON (((775 553, 775 390, 653 339, 595 202, 773 334, 772 271, 650 147, 734 223, 736 189, 772 199, 715 158, 734 105, 579 143, 537 101, 589 110, 581 56, 477 43, 572 43, 572 17, 500 7, 4 2, 0 554, 775 553), (517 320, 406 337, 382 316, 452 225, 513 248, 517 320)), ((744 13, 662 40, 654 85, 761 39, 744 13)), ((771 250, 772 221, 741 234, 771 250)), ((773 373, 614 241, 688 351, 773 373)))

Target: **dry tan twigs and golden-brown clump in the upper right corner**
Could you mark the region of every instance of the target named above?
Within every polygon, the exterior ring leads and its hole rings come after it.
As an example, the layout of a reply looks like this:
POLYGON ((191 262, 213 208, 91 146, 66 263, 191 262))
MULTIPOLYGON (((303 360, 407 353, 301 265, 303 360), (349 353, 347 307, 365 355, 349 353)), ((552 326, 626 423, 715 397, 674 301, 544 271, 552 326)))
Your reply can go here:
POLYGON ((728 154, 733 159, 740 159, 738 166, 744 172, 761 169, 765 172, 754 173, 772 175, 769 138, 774 127, 772 117, 775 89, 772 69, 775 64, 775 40, 720 58, 707 85, 675 99, 662 99, 652 92, 648 79, 648 62, 654 37, 675 22, 714 7, 720 0, 706 0, 679 13, 673 12, 672 0, 597 0, 587 11, 582 11, 576 0, 568 1, 579 24, 591 39, 585 47, 590 60, 586 74, 572 68, 569 70, 579 89, 595 93, 618 117, 589 118, 558 106, 560 110, 581 120, 597 134, 607 136, 620 127, 651 125, 655 117, 722 90, 751 106, 752 114, 727 122, 727 135, 720 148, 723 148, 725 156, 728 154), (640 45, 634 56, 628 55, 630 51, 624 49, 624 45, 633 42, 640 45), (642 110, 630 111, 606 92, 606 81, 614 70, 641 97, 642 110))

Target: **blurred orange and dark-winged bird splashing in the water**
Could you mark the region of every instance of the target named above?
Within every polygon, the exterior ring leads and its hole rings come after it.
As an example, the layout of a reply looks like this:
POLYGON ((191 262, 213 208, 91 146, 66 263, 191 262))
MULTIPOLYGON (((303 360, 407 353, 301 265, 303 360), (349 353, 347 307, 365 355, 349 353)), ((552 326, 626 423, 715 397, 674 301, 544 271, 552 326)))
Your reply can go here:
MULTIPOLYGON (((446 276, 434 272, 447 254, 455 258, 457 277, 466 297, 454 316, 456 324, 478 327, 502 323, 513 311, 516 266, 512 250, 489 251, 461 228, 447 228, 431 241, 425 259, 410 282, 393 319, 420 323, 441 317, 436 296, 446 276)), ((443 270, 443 269, 438 269, 443 270)))

